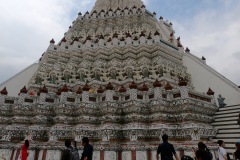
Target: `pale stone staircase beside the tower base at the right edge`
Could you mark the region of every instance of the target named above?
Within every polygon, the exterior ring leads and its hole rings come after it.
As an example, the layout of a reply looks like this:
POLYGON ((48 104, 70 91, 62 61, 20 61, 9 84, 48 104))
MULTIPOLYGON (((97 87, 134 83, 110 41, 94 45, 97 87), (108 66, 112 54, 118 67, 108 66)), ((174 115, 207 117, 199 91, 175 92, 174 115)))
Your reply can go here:
POLYGON ((225 142, 225 148, 232 157, 235 152, 235 142, 240 139, 240 126, 237 124, 238 115, 240 113, 240 104, 234 106, 225 106, 220 108, 215 114, 215 122, 212 125, 218 129, 213 142, 219 139, 225 142))

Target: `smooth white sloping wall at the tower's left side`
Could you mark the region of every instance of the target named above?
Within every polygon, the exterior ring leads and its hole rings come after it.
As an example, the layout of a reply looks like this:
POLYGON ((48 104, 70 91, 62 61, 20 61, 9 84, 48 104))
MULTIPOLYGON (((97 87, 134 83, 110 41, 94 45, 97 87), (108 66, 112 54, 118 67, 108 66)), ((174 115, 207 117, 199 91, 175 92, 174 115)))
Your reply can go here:
POLYGON ((19 72, 9 80, 0 84, 0 90, 7 87, 8 96, 18 96, 19 91, 24 87, 28 86, 28 82, 33 74, 37 71, 39 64, 34 63, 23 71, 19 72))

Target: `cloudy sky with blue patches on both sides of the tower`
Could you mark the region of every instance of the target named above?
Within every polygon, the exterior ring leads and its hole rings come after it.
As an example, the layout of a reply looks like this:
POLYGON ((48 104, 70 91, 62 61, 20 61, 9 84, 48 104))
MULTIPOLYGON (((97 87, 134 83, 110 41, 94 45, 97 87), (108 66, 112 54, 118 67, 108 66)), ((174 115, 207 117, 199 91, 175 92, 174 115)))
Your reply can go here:
MULTIPOLYGON (((4 1, 4 0, 2 0, 4 1)), ((95 0, 8 0, 0 5, 0 84, 59 41, 95 0)), ((173 23, 184 47, 240 85, 239 0, 144 0, 147 9, 173 23)))

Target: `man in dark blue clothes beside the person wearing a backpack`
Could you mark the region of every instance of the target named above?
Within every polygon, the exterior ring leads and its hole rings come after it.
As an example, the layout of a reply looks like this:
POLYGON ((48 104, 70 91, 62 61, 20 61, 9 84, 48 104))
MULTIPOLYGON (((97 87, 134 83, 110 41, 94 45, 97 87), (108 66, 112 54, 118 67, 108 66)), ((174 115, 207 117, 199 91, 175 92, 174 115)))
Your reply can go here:
POLYGON ((84 148, 83 148, 81 160, 92 160, 93 146, 89 144, 88 137, 82 138, 82 145, 84 146, 84 148))

